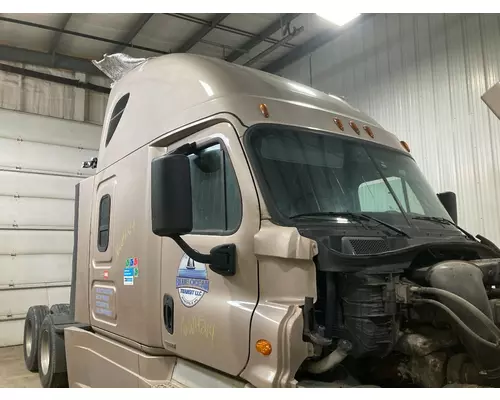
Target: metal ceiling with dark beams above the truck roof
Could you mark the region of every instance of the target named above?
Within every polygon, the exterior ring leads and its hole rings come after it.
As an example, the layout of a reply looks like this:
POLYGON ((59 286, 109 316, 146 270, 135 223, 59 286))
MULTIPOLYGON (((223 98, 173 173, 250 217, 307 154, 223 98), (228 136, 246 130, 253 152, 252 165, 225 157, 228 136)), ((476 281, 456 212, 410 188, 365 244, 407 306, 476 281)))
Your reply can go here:
POLYGON ((99 75, 105 53, 189 52, 276 73, 345 30, 315 14, 1 14, 0 60, 99 75))

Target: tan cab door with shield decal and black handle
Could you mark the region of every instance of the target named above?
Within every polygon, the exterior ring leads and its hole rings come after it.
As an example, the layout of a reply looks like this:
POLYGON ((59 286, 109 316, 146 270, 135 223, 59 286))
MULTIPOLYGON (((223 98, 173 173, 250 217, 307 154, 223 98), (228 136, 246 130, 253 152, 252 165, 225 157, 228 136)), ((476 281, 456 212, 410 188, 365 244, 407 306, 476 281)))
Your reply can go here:
POLYGON ((182 238, 204 254, 235 244, 236 273, 221 276, 190 259, 172 239, 162 238, 162 338, 165 348, 181 357, 238 375, 248 360, 250 323, 258 301, 253 243, 260 227, 259 203, 231 124, 207 128, 167 151, 192 142, 202 150, 189 155, 193 231, 182 238))

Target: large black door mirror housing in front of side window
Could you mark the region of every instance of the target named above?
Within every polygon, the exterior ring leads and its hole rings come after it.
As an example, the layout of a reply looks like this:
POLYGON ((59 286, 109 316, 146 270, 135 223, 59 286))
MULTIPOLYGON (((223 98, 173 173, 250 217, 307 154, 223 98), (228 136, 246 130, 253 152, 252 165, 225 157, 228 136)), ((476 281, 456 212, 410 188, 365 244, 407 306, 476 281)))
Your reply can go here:
POLYGON ((158 157, 151 163, 153 233, 178 236, 193 230, 191 173, 184 154, 158 157))

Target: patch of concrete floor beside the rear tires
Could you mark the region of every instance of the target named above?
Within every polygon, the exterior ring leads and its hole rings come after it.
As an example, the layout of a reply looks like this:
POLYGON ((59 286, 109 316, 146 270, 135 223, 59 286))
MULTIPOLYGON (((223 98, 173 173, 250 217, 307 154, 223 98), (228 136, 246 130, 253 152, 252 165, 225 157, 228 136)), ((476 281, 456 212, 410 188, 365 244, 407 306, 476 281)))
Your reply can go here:
POLYGON ((38 373, 24 365, 23 347, 0 348, 0 388, 39 388, 38 373))

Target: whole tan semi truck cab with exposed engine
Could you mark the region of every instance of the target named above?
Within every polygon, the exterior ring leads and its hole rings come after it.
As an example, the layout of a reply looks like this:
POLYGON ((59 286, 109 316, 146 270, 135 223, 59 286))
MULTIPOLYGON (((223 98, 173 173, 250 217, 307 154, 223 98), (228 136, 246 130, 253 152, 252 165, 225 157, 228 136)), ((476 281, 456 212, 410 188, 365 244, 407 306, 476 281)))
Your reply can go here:
POLYGON ((454 346, 472 383, 497 367, 483 278, 500 251, 456 224, 455 195, 434 193, 408 144, 336 96, 201 56, 148 59, 113 84, 92 166, 69 386, 380 385, 381 363, 443 386, 428 371, 454 346), (429 293, 462 324, 434 324, 429 293))

